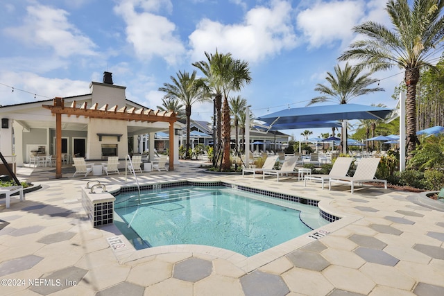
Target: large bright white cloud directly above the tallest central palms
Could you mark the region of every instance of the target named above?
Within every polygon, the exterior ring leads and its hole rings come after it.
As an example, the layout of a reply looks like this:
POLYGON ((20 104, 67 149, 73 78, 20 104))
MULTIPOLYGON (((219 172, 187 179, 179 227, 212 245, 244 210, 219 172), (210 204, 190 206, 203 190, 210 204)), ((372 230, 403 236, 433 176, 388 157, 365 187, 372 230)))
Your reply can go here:
POLYGON ((291 25, 291 5, 285 1, 272 1, 270 8, 258 6, 249 10, 242 24, 225 25, 203 19, 189 35, 194 60, 217 48, 235 58, 257 62, 282 49, 293 49, 297 43, 291 25))

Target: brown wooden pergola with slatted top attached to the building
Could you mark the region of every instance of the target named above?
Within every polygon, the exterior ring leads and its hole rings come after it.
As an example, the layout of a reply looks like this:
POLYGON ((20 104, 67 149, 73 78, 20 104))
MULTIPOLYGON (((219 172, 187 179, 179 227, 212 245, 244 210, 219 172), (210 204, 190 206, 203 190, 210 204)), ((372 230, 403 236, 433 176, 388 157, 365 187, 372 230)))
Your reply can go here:
MULTIPOLYGON (((87 103, 83 103, 80 107, 76 107, 76 101, 71 103, 70 107, 65 107, 63 98, 54 98, 53 105, 42 105, 42 107, 51 110, 52 114, 56 114, 56 178, 62 177, 62 114, 69 116, 85 116, 96 119, 114 119, 123 121, 142 121, 142 122, 169 122, 169 137, 174 137, 174 123, 178 121, 176 113, 160 112, 144 108, 136 109, 131 107, 121 107, 117 109, 117 105, 108 108, 108 104, 98 108, 95 103, 92 107, 87 108, 87 103)), ((169 147, 169 169, 174 170, 174 141, 170 141, 169 147)))

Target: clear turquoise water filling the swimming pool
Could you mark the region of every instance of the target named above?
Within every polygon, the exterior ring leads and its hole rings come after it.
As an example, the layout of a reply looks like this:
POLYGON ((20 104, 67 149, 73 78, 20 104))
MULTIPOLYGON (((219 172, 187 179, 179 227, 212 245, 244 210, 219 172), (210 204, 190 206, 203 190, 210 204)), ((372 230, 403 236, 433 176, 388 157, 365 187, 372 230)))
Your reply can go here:
POLYGON ((121 193, 115 223, 137 249, 174 244, 222 247, 252 256, 311 231, 300 211, 225 186, 121 193), (124 223, 124 224, 123 224, 124 223), (128 226, 129 225, 129 226, 128 226))

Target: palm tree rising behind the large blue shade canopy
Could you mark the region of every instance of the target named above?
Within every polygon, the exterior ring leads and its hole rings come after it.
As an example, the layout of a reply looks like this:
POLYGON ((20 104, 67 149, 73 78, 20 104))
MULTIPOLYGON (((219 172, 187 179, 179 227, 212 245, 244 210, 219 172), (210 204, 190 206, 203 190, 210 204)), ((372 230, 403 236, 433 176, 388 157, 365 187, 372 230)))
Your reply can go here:
MULTIPOLYGON (((325 77, 330 86, 318 83, 314 90, 320 92, 322 96, 312 98, 308 105, 327 101, 347 104, 358 96, 384 91, 382 87, 369 87, 378 81, 375 78, 370 78, 370 75, 371 73, 362 73, 362 68, 352 67, 348 62, 343 69, 339 64, 336 64, 334 74, 327 72, 327 77, 325 77)), ((346 145, 345 137, 347 137, 347 131, 343 130, 341 132, 342 145, 346 145)))

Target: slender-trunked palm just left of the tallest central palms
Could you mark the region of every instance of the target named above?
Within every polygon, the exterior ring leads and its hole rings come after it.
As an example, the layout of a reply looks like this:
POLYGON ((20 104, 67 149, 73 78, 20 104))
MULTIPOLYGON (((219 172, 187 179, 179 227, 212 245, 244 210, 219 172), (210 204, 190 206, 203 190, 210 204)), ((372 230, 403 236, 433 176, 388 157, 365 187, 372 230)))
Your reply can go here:
MULTIPOLYGON (((191 118, 191 105, 194 103, 201 103, 207 101, 203 89, 198 87, 198 80, 196 79, 196 71, 191 73, 191 76, 187 71, 179 71, 176 73, 176 77, 170 76, 172 83, 164 83, 163 87, 159 87, 160 92, 167 93, 165 98, 171 100, 178 100, 185 105, 185 116, 187 116, 187 151, 186 158, 189 158, 189 125, 191 118)), ((172 141, 172 139, 170 139, 172 141)))

